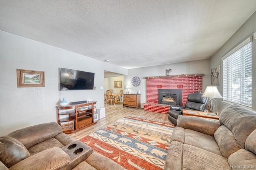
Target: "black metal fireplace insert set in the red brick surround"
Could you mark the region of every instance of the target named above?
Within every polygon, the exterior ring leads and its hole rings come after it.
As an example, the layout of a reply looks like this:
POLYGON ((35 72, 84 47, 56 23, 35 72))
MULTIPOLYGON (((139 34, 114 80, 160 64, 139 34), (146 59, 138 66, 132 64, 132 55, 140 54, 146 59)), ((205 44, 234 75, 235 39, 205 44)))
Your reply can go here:
POLYGON ((181 105, 181 89, 158 89, 158 104, 181 105))

